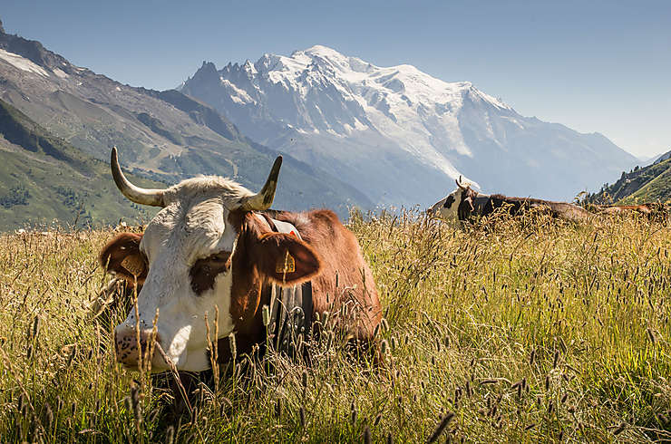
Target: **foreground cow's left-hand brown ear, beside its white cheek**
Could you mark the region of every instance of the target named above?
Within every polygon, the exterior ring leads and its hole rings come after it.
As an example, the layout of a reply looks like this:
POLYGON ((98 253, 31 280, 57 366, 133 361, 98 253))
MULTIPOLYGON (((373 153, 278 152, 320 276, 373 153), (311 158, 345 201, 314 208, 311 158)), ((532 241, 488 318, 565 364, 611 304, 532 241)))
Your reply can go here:
POLYGON ((100 263, 108 273, 124 278, 129 284, 144 284, 149 266, 140 251, 142 235, 121 233, 102 248, 100 263))

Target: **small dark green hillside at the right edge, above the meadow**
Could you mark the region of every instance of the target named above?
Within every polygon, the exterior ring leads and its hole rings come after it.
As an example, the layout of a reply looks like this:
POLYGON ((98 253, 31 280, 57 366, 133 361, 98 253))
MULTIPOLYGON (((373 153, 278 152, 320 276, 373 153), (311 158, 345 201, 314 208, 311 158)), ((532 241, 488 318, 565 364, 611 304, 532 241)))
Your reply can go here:
MULTIPOLYGON (((667 153, 668 154, 668 153, 667 153)), ((590 203, 636 204, 671 200, 671 157, 661 156, 652 165, 623 172, 612 185, 605 184, 598 193, 588 195, 590 203)))

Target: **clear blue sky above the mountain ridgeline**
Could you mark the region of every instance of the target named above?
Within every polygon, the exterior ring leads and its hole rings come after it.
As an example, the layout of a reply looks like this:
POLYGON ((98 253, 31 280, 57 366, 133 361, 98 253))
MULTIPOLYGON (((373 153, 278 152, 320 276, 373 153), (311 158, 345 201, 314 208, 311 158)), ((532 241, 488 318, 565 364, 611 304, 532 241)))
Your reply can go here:
POLYGON ((671 149, 671 1, 5 0, 9 33, 124 83, 177 86, 204 61, 324 44, 471 81, 517 111, 671 149))

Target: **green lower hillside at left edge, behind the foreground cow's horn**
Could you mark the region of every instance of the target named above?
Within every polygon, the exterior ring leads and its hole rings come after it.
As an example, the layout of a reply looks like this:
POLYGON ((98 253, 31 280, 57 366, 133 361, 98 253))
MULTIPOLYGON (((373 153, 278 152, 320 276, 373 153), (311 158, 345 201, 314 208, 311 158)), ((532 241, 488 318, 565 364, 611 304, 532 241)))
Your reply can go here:
MULTIPOLYGON (((134 178, 144 186, 155 182, 134 178)), ((160 185, 164 186, 164 185, 160 185)), ((0 100, 0 231, 20 227, 131 223, 155 210, 123 198, 107 164, 53 137, 0 100)))

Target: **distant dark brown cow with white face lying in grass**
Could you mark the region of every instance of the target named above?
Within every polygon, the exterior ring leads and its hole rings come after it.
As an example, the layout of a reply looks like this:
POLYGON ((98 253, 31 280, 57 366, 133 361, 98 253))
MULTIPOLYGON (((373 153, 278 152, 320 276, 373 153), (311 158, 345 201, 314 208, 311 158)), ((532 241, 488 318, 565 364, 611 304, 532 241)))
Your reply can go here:
POLYGON ((501 194, 482 194, 471 188, 471 184, 455 180, 457 189, 442 198, 427 212, 444 220, 468 220, 472 216, 489 216, 500 208, 512 216, 519 215, 532 208, 549 212, 552 217, 571 221, 588 220, 589 212, 585 208, 566 202, 553 202, 539 198, 511 198, 501 194))

